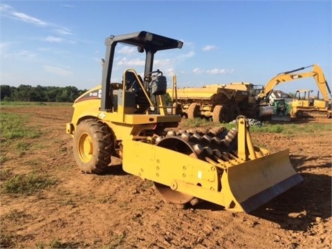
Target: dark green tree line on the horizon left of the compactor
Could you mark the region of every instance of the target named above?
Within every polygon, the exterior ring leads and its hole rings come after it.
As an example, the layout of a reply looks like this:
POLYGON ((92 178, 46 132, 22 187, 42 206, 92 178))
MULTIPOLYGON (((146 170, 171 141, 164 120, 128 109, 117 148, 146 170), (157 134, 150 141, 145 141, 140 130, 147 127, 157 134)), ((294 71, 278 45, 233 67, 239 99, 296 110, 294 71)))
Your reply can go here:
POLYGON ((1 100, 4 101, 74 102, 85 91, 86 89, 79 90, 75 86, 0 85, 1 100))

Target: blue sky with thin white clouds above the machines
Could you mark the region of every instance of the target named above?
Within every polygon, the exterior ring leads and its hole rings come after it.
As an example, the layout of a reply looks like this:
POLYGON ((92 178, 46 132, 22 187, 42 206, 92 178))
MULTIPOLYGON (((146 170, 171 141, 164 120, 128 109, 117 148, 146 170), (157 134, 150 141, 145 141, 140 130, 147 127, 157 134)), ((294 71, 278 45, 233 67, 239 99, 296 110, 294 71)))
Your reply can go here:
MULTIPOLYGON (((146 30, 180 39, 155 66, 178 86, 252 82, 320 64, 331 86, 331 1, 1 1, 1 84, 100 84, 104 40, 146 30)), ((112 81, 144 58, 119 47, 112 81)), ((136 50, 135 50, 136 51, 136 50)), ((311 70, 311 68, 308 68, 311 70)), ((313 79, 278 90, 317 90, 313 79)))

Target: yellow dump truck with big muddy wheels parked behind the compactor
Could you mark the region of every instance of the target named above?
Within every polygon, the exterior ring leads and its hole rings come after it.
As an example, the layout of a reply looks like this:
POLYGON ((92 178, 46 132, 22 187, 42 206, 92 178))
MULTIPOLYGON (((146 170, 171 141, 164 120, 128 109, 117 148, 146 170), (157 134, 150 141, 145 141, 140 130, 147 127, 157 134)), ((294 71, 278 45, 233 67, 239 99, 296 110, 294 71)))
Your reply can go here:
MULTIPOLYGON (((259 111, 255 95, 262 86, 248 82, 208 84, 203 87, 167 89, 176 110, 186 118, 211 118, 213 122, 230 122, 240 114, 259 118, 266 111, 259 111), (175 98, 174 98, 175 95, 175 98), (175 104, 176 103, 176 104, 175 104)), ((272 112, 272 111, 270 111, 272 112)))

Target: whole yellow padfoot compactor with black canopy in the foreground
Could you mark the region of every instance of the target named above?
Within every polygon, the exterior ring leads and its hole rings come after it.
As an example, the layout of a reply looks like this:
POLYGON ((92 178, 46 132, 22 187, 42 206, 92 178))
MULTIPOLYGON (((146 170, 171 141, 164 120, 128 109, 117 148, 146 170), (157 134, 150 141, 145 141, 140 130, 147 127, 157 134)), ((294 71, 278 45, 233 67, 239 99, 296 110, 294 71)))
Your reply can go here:
POLYGON ((102 84, 75 100, 66 124, 82 172, 100 174, 116 156, 125 172, 153 181, 166 202, 210 201, 234 212, 251 212, 302 181, 288 150, 273 154, 252 145, 244 116, 229 131, 175 129, 181 117, 167 113, 166 77, 153 64, 156 52, 183 42, 141 31, 108 37, 105 44, 102 84), (143 77, 130 68, 122 82, 111 82, 117 44, 145 53, 143 77))

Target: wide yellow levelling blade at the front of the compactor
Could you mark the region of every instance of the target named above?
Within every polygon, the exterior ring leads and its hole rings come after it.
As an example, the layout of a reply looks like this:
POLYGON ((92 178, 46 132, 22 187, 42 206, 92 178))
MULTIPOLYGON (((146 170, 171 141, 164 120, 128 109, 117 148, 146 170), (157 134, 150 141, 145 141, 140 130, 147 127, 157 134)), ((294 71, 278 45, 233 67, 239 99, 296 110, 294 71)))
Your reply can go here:
MULTIPOLYGON (((221 179, 224 194, 234 196, 247 213, 303 181, 291 165, 288 149, 234 165, 225 173, 221 179)), ((225 208, 232 211, 232 207, 225 208)))

